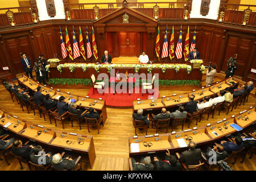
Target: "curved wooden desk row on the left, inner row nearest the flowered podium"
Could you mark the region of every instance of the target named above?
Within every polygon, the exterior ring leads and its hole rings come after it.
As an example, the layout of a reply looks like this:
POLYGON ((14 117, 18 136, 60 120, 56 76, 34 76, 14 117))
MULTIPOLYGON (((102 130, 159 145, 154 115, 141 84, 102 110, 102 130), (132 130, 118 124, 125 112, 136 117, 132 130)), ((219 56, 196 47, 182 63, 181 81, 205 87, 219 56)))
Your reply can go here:
POLYGON ((93 109, 97 110, 102 115, 103 123, 106 122, 107 119, 107 112, 106 112, 106 105, 104 100, 89 98, 88 96, 82 97, 77 96, 75 94, 71 94, 69 92, 60 92, 59 89, 48 88, 46 85, 39 84, 35 80, 23 75, 22 77, 18 78, 18 82, 20 85, 32 90, 32 92, 36 92, 36 88, 38 86, 42 87, 42 94, 50 94, 52 99, 58 101, 61 96, 65 97, 64 102, 69 102, 69 100, 74 99, 75 104, 77 107, 82 109, 89 109, 89 107, 93 107, 93 109))

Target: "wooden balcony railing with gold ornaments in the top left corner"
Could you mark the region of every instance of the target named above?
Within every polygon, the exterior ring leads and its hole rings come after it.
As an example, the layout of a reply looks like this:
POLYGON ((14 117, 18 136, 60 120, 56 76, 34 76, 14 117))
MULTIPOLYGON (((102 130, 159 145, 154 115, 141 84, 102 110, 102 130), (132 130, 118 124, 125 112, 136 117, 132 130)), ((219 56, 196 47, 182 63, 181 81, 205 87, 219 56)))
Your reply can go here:
POLYGON ((38 9, 34 6, 0 9, 0 28, 38 23, 38 9), (5 12, 5 13, 3 13, 5 12))

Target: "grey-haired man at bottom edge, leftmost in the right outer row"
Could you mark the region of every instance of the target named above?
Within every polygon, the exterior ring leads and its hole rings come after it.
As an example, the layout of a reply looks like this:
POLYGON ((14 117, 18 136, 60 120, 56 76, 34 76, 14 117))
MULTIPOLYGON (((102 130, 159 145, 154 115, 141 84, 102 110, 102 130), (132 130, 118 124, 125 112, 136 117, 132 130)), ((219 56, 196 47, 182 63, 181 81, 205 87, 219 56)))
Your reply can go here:
POLYGON ((142 157, 141 163, 131 157, 131 164, 133 165, 133 171, 153 171, 154 165, 151 163, 150 156, 142 157))

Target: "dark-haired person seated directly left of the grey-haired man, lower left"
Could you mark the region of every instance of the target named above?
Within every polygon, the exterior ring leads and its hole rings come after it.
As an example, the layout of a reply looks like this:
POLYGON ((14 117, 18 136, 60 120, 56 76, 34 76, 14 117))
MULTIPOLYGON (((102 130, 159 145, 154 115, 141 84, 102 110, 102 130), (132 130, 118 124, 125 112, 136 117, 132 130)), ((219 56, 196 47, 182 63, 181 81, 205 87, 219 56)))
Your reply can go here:
POLYGON ((33 154, 30 155, 30 161, 34 164, 51 164, 52 153, 48 152, 47 154, 43 154, 42 152, 41 146, 35 146, 35 148, 33 148, 33 154), (42 158, 43 155, 45 156, 44 158, 42 158))

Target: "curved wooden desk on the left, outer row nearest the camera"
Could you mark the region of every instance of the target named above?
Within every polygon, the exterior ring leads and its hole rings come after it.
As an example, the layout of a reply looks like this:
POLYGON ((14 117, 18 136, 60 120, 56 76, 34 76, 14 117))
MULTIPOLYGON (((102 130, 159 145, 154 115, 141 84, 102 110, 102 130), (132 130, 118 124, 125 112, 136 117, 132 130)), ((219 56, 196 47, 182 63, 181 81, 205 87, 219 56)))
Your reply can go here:
POLYGON ((23 142, 30 140, 42 144, 43 148, 46 147, 47 150, 60 154, 65 151, 81 156, 82 162, 89 163, 92 168, 96 158, 92 136, 61 132, 42 125, 34 125, 2 109, 0 109, 0 115, 0 127, 7 130, 11 137, 22 138, 23 142))

